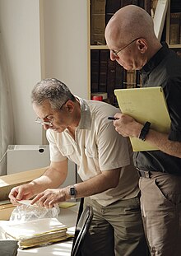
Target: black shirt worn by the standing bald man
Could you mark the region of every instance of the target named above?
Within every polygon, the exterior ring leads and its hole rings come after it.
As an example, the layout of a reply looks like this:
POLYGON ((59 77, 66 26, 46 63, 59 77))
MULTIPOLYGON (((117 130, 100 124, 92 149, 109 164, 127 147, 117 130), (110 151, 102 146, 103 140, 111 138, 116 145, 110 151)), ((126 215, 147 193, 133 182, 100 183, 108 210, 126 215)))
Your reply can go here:
MULTIPOLYGON (((181 58, 163 44, 141 72, 143 87, 163 87, 171 119, 168 138, 181 142, 181 58)), ((181 158, 163 151, 134 152, 134 163, 140 170, 181 175, 181 158)))

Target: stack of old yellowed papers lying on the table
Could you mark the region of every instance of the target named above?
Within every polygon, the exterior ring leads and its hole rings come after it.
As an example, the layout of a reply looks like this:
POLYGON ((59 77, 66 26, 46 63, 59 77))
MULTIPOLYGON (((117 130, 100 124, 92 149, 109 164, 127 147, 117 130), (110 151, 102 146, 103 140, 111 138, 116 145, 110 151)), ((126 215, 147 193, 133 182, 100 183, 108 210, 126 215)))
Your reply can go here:
POLYGON ((20 249, 52 244, 72 237, 67 234, 67 226, 56 218, 9 224, 6 226, 5 235, 8 239, 17 240, 20 249))

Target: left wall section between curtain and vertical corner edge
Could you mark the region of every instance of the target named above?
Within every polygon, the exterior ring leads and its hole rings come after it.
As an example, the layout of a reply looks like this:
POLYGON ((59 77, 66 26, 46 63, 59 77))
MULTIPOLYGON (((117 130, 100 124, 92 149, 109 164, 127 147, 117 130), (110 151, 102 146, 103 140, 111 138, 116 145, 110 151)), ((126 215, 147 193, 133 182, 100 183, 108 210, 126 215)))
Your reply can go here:
POLYGON ((30 104, 32 85, 41 77, 39 1, 0 0, 0 30, 12 91, 16 144, 41 142, 30 104))

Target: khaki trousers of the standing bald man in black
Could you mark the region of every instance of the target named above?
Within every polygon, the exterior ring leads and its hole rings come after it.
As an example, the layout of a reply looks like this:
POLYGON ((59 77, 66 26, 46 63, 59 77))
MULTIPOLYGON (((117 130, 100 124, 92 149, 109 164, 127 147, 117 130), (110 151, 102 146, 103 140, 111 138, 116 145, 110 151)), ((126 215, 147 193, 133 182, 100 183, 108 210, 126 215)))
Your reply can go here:
POLYGON ((181 176, 151 172, 139 186, 151 255, 181 255, 181 176))

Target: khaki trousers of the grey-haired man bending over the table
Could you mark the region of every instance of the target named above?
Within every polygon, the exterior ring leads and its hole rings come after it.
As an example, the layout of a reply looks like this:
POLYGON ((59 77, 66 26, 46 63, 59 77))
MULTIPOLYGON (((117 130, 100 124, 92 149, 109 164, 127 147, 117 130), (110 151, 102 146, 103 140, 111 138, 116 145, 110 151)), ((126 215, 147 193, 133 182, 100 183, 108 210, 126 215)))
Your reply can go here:
POLYGON ((107 207, 85 198, 87 204, 93 207, 94 217, 83 244, 83 256, 148 255, 138 197, 119 200, 107 207))

